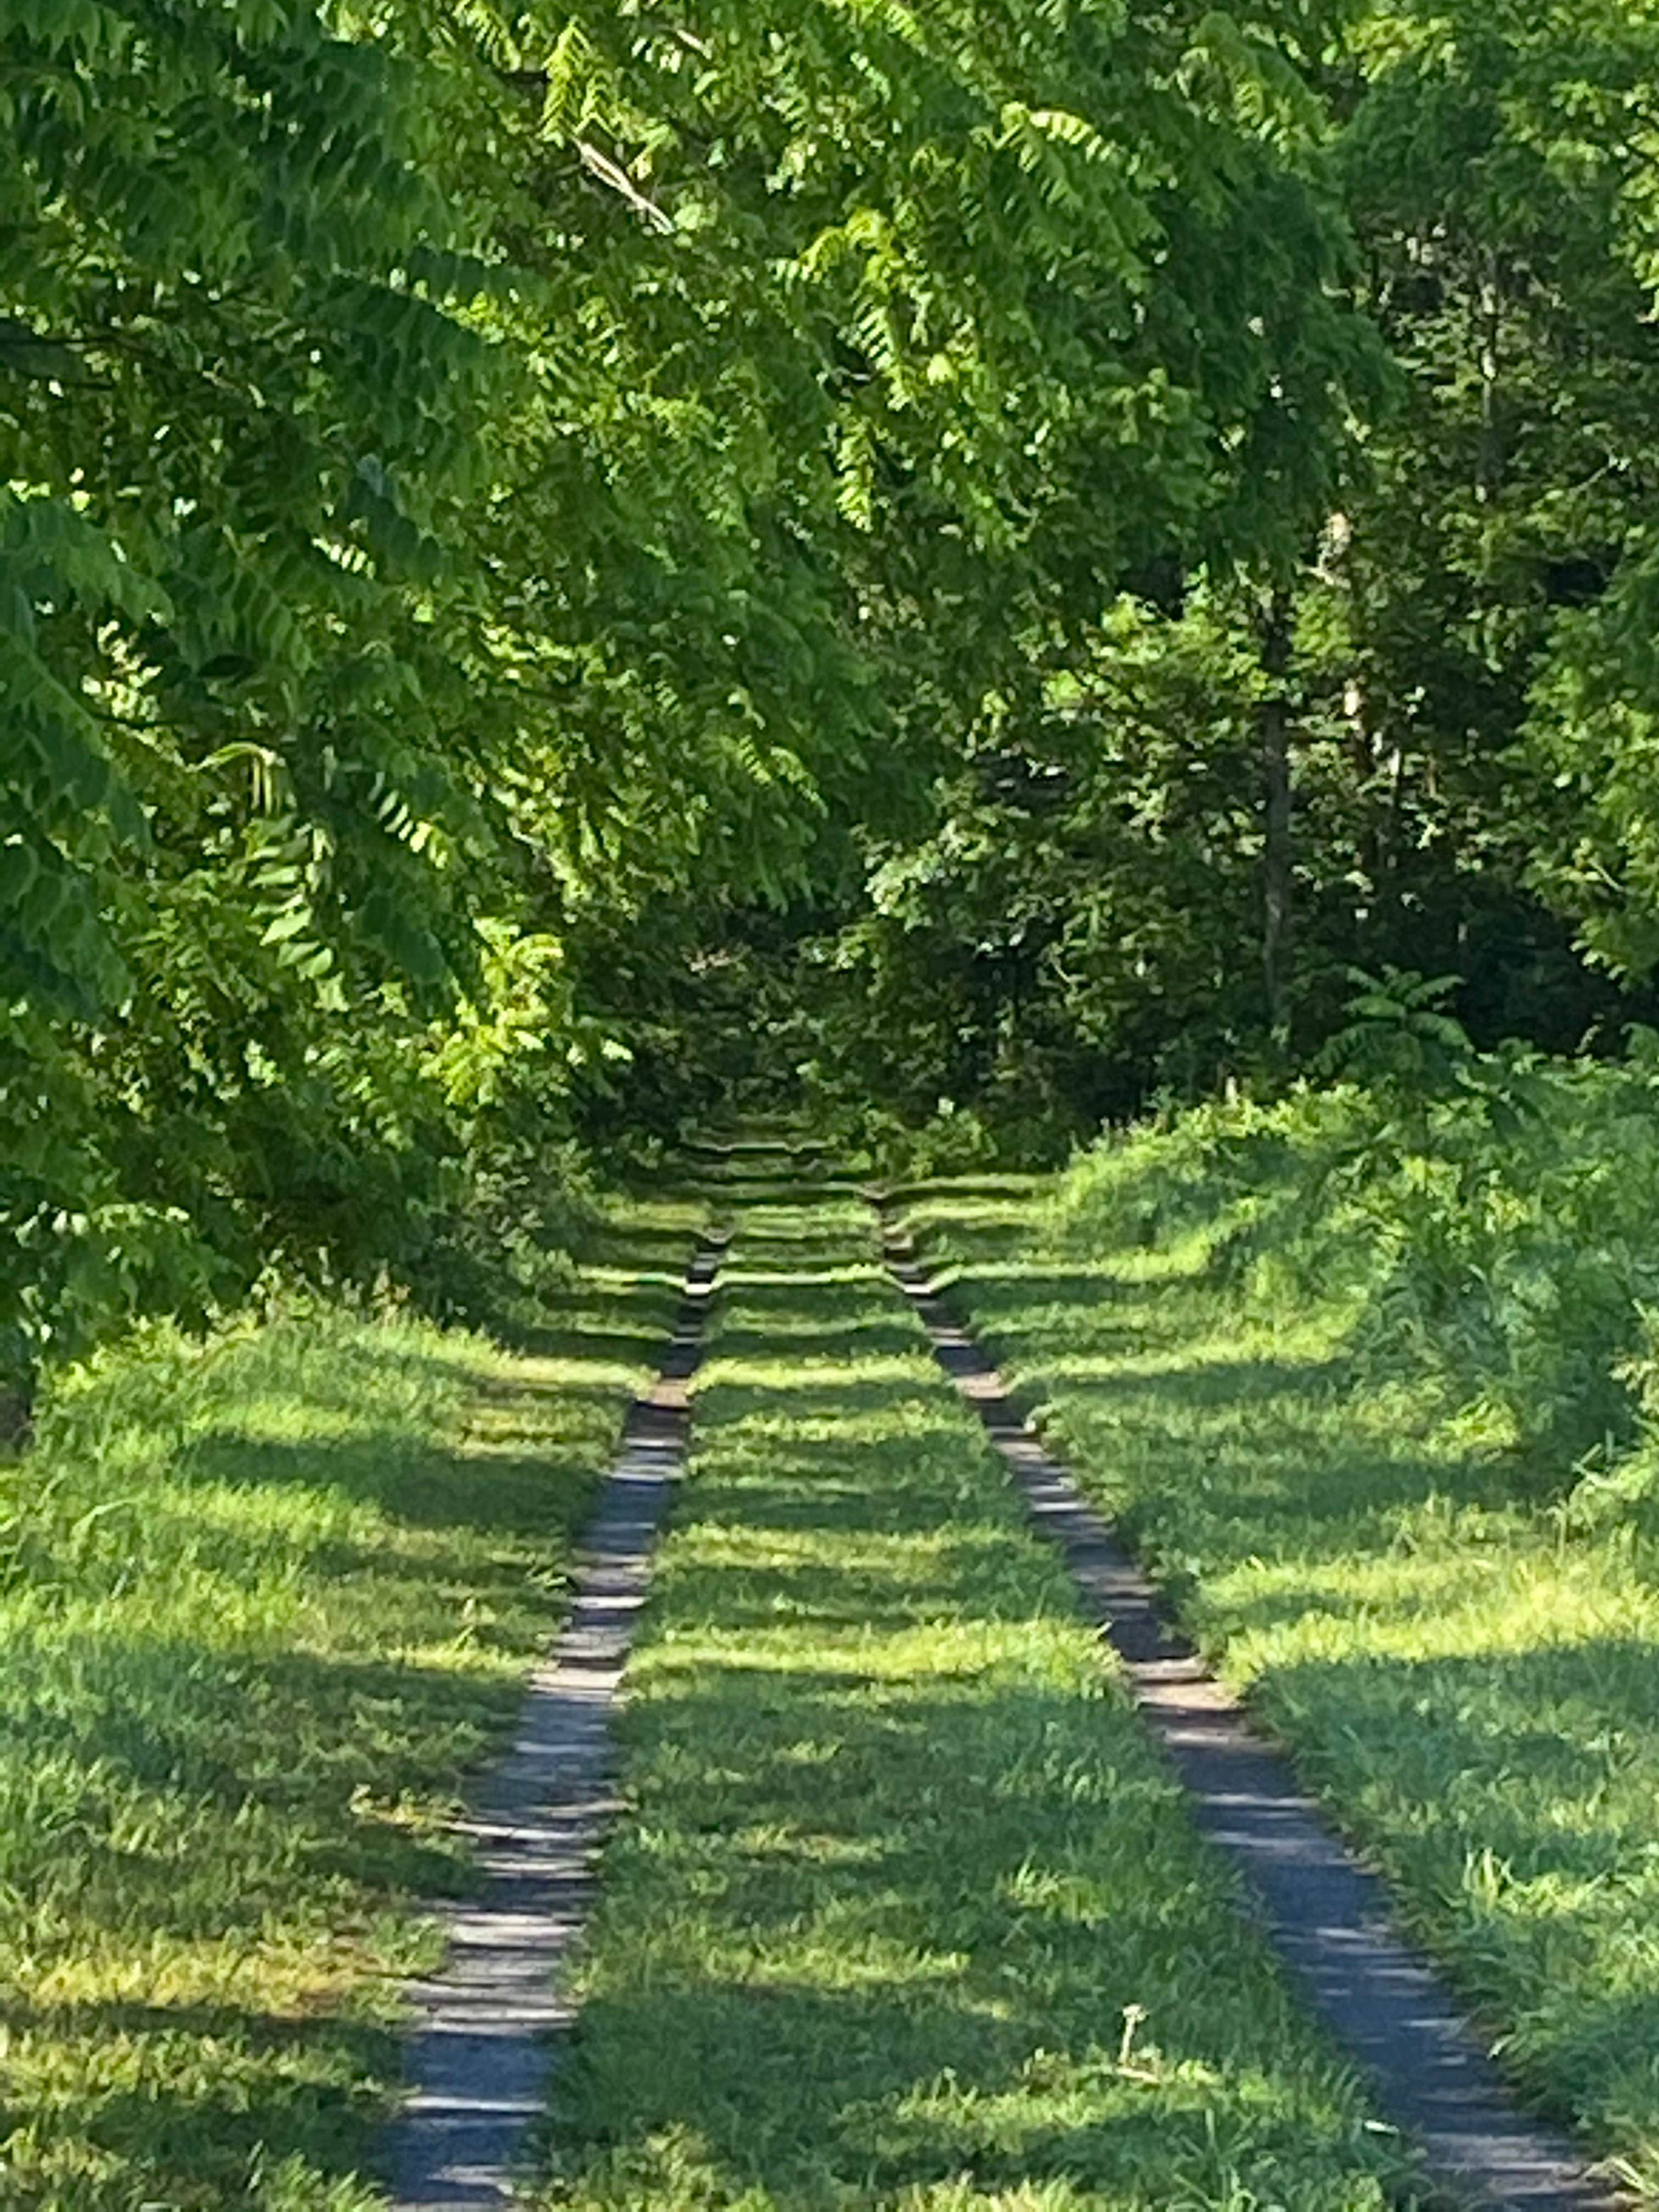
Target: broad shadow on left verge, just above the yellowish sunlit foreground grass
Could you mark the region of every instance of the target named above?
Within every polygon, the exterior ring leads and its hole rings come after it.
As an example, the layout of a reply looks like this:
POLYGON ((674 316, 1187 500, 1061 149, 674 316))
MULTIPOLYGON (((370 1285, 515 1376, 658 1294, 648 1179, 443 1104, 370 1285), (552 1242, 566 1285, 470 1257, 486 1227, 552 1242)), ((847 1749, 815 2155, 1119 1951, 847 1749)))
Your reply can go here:
POLYGON ((471 1887, 436 1820, 518 1712, 511 1674, 279 1652, 204 1683, 197 1650, 139 1637, 53 1661, 84 1705, 31 1701, 44 1674, 11 1692, 7 1778, 33 1767, 46 1818, 0 1843, 7 1920, 33 1905, 53 1924, 73 1916, 73 1942, 210 1940, 259 1931, 290 1867, 334 1896, 349 1885, 363 1911, 471 1887), (73 1825, 53 1798, 73 1801, 73 1825))

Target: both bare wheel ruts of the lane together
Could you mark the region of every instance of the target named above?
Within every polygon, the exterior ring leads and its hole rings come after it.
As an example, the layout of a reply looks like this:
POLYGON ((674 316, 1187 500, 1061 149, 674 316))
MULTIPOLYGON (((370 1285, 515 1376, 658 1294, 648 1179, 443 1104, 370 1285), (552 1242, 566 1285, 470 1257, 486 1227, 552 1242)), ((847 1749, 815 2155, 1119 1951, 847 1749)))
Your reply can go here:
MULTIPOLYGON (((759 1161, 726 1161, 723 1181, 739 1199, 759 1197, 737 1188, 745 1166, 759 1161)), ((394 2139, 396 2212, 484 2212, 513 2201, 524 2135, 546 2099, 546 2037, 571 2017, 562 1982, 613 1812, 611 1705, 684 1460, 686 1383, 699 1363, 719 1250, 706 1243, 692 1263, 664 1376, 635 1407, 591 1524, 568 1626, 533 1681, 511 1756, 469 1823, 489 1889, 449 1916, 449 1964, 416 1993, 422 2017, 414 2095, 394 2139)), ((1194 1827, 1243 1874, 1279 1960, 1365 2068, 1378 2110, 1422 2146, 1431 2181, 1486 2205, 1608 2212, 1619 2199, 1590 2179, 1566 2141, 1517 2110, 1449 1991, 1400 1938, 1383 1885, 1170 1632, 1146 1577, 1020 1422, 995 1369, 891 1230, 885 1256, 1033 1520, 1062 1548, 1194 1827)))

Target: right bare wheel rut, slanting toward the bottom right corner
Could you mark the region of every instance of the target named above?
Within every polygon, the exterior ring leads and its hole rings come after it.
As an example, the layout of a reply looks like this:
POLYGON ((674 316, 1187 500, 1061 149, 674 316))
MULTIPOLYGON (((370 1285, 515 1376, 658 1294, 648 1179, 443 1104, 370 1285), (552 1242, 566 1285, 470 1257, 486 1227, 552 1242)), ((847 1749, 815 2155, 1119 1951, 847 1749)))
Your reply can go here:
POLYGON ((1066 1555, 1199 1829, 1250 1882, 1274 1949, 1367 2070, 1380 2110, 1416 2137, 1429 2172, 1460 2192, 1526 2212, 1610 2212, 1621 2199, 1586 2172, 1571 2143, 1513 2104, 1451 1991, 1400 1936, 1383 1882, 1172 1632, 1150 1582, 1020 1420, 909 1239, 883 1223, 883 1248, 940 1367, 984 1422, 1033 1520, 1066 1555))

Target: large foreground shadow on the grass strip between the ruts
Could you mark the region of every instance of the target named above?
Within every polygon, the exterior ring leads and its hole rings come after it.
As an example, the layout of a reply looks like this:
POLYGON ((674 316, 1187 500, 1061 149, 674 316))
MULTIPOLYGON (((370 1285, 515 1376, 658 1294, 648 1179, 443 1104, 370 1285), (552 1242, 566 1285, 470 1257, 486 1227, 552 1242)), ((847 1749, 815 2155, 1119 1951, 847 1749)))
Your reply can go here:
POLYGON ((648 1849, 608 1865, 624 1891, 672 1882, 633 1900, 666 1940, 584 2004, 560 2106, 611 2117, 586 2148, 555 2130, 560 2170, 679 2135, 719 2177, 697 2203, 1071 2183, 1221 2205, 1245 2174, 1283 2203, 1383 2201, 1387 2157, 1298 2048, 1128 1717, 1018 1681, 929 1694, 852 1641, 783 1681, 697 1672, 650 1723, 672 1801, 646 1790, 648 1849), (1113 2064, 1128 2004, 1139 2077, 1113 2064))

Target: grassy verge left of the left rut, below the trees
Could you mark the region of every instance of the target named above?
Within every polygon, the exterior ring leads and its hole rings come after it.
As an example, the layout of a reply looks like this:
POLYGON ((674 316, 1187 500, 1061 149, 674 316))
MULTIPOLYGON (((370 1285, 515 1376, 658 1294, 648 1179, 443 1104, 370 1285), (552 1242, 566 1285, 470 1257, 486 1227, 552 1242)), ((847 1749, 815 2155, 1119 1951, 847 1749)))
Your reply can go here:
POLYGON ((520 1356, 316 1314, 69 1378, 0 1471, 0 2201, 347 2212, 411 1900, 562 1613, 692 1210, 520 1356))

